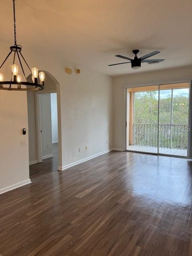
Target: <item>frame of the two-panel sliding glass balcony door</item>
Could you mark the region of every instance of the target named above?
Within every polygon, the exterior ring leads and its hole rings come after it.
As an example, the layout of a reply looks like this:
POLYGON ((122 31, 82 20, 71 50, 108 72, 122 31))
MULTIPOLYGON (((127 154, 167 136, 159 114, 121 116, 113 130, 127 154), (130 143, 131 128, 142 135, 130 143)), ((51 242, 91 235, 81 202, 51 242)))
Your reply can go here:
MULTIPOLYGON (((127 112, 127 104, 128 104, 127 90, 131 89, 131 88, 136 88, 136 87, 158 86, 158 127, 159 127, 160 86, 166 85, 166 84, 182 84, 182 83, 189 83, 189 86, 188 86, 188 88, 189 88, 188 125, 190 126, 190 128, 192 128, 192 78, 190 80, 180 80, 180 81, 175 81, 175 82, 162 82, 162 83, 157 83, 157 84, 153 83, 153 84, 142 84, 142 85, 134 85, 134 86, 130 86, 130 87, 124 87, 124 93, 126 93, 126 97, 124 97, 124 99, 125 99, 125 108, 124 109, 126 110, 126 114, 124 115, 125 116, 125 130, 124 130, 124 134, 125 134, 124 150, 125 151, 127 151, 127 152, 136 152, 136 153, 144 153, 144 154, 153 154, 153 155, 160 155, 160 156, 172 156, 172 157, 179 157, 179 158, 192 158, 192 129, 190 130, 190 132, 188 134, 187 156, 177 156, 177 155, 168 155, 168 154, 159 153, 159 129, 158 129, 157 153, 142 152, 142 151, 135 151, 135 150, 128 150, 127 149, 128 148, 128 143, 127 143, 127 136, 128 136, 128 134, 127 134, 127 124, 128 124, 128 122, 127 122, 127 116, 128 116, 128 112, 127 112)), ((133 99, 133 102, 134 102, 134 99, 133 99)))

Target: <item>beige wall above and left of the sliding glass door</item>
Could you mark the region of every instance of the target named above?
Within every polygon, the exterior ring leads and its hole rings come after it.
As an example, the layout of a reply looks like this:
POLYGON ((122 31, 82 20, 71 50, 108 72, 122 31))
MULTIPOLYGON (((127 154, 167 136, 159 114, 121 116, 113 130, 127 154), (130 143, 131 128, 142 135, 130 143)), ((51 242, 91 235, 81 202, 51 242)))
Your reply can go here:
POLYGON ((184 82, 191 78, 192 66, 114 77, 114 148, 126 148, 126 88, 184 82))

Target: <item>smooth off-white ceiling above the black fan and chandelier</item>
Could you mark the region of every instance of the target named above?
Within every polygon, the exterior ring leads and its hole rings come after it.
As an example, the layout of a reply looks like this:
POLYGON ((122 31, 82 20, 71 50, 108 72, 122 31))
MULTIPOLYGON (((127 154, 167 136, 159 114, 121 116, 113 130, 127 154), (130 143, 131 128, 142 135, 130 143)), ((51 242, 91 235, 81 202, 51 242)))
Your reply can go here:
MULTIPOLYGON (((0 0, 0 42, 13 42, 12 0, 0 0), (3 22, 2 22, 3 21, 3 22)), ((191 0, 17 0, 17 41, 25 48, 118 76, 192 64, 191 0), (160 64, 124 62, 159 50, 160 64)), ((4 56, 1 56, 4 58, 4 56)))

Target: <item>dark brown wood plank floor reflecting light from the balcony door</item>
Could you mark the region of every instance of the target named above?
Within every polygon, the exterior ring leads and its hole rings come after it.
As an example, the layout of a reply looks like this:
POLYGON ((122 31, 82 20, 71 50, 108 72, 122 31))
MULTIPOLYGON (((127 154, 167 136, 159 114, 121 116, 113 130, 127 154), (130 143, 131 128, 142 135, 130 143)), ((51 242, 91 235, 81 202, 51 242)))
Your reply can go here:
POLYGON ((110 152, 0 195, 3 256, 191 256, 192 161, 110 152))

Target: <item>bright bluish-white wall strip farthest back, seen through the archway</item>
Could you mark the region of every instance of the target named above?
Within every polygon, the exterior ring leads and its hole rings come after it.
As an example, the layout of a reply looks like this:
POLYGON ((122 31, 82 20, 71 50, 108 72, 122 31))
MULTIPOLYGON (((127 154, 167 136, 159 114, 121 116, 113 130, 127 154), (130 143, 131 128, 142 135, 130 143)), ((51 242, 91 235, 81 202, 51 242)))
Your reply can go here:
POLYGON ((57 94, 51 93, 52 143, 58 142, 57 94))

